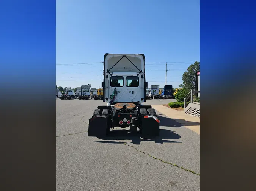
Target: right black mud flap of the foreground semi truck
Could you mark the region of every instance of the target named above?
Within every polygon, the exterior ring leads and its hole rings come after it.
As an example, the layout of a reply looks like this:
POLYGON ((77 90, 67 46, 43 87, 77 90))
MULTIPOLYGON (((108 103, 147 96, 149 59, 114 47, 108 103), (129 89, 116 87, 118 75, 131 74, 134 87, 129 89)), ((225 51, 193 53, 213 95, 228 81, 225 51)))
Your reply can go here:
POLYGON ((155 115, 141 115, 142 136, 159 136, 159 123, 160 120, 155 115))

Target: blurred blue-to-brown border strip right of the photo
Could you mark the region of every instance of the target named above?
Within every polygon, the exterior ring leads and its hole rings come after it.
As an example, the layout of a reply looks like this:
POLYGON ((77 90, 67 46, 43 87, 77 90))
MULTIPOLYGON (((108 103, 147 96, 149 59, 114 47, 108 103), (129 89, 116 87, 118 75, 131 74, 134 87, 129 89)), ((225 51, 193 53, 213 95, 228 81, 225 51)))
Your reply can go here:
POLYGON ((201 190, 253 188, 255 5, 200 2, 201 190))

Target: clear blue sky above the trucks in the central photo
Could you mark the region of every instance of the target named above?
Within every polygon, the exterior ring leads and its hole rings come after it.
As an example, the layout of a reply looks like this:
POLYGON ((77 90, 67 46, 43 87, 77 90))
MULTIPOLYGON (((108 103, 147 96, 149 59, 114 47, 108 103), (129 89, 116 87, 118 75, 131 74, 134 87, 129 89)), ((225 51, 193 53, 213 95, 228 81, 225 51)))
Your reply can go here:
POLYGON ((143 53, 148 85, 165 85, 168 62, 167 85, 177 88, 200 61, 200 2, 160 2, 57 0, 56 85, 99 88, 105 53, 143 53))

